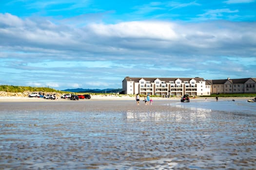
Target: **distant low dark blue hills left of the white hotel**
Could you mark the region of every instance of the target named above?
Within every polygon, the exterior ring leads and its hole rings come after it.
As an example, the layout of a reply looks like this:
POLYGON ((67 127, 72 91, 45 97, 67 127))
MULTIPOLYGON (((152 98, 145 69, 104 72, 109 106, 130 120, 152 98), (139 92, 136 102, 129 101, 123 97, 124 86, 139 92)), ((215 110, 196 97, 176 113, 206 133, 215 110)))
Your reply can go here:
POLYGON ((70 91, 70 92, 73 92, 73 93, 119 93, 122 91, 121 88, 106 88, 106 89, 84 89, 84 88, 74 88, 74 89, 71 89, 71 88, 68 88, 68 89, 65 89, 65 90, 61 90, 61 91, 70 91))

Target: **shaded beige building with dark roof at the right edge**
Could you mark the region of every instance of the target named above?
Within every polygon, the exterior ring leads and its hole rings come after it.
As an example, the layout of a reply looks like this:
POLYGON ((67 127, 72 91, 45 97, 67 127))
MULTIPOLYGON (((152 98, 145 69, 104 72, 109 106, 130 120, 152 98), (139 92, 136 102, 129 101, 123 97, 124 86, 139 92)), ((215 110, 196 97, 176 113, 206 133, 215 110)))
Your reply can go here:
POLYGON ((211 94, 256 93, 256 78, 206 80, 211 85, 211 94))

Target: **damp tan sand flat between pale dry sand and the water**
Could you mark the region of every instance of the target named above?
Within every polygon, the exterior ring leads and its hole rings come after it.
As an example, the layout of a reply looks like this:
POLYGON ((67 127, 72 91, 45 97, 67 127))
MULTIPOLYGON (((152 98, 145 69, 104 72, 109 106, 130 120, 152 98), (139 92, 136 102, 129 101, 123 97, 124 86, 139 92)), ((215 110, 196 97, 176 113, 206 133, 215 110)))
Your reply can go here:
MULTIPOLYGON (((42 100, 43 101, 43 100, 42 100)), ((178 102, 172 101, 154 101, 152 105, 145 105, 142 102, 140 105, 136 101, 93 101, 93 100, 80 100, 80 101, 48 101, 48 102, 0 102, 1 111, 41 111, 41 112, 168 112, 174 111, 174 108, 166 105, 165 103, 178 102)))

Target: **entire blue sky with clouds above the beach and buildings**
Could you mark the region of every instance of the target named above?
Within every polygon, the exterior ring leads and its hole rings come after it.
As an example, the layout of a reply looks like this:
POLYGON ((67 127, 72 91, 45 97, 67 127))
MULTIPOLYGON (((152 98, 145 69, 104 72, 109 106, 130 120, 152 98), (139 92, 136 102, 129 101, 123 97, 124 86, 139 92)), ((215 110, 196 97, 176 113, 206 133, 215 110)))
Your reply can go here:
POLYGON ((0 0, 0 85, 256 77, 256 0, 0 0))

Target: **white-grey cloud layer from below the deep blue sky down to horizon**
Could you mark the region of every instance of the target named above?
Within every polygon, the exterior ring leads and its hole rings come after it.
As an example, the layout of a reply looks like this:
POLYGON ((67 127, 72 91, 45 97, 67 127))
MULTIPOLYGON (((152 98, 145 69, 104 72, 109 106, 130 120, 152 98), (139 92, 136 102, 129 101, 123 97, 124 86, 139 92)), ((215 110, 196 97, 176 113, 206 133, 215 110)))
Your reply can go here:
POLYGON ((242 21, 77 26, 0 14, 0 83, 121 88, 125 76, 256 77, 255 30, 255 22, 242 21))

